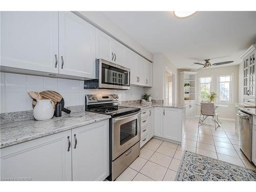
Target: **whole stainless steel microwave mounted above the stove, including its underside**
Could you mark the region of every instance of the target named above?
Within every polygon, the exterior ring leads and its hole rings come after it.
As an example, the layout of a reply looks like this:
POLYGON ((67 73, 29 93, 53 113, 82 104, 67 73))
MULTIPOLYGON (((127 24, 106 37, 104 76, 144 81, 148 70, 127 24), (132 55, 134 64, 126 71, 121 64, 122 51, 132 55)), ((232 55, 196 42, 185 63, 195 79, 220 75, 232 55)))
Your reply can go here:
POLYGON ((131 70, 113 62, 96 59, 96 78, 84 81, 84 89, 130 89, 131 70))

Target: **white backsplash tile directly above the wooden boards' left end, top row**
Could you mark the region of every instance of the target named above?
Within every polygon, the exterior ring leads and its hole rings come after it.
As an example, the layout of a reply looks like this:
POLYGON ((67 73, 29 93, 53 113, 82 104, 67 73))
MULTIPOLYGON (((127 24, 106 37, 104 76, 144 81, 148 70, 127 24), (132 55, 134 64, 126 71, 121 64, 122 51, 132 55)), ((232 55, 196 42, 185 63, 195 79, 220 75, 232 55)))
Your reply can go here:
POLYGON ((27 92, 44 91, 44 77, 27 75, 27 92))

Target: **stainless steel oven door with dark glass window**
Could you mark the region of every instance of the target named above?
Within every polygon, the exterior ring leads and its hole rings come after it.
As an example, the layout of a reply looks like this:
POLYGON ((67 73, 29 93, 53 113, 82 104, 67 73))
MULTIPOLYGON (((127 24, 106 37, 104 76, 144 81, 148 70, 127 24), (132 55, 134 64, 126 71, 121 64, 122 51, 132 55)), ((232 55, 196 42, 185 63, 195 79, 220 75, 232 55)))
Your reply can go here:
POLYGON ((112 120, 112 160, 140 141, 141 112, 113 118, 112 120))

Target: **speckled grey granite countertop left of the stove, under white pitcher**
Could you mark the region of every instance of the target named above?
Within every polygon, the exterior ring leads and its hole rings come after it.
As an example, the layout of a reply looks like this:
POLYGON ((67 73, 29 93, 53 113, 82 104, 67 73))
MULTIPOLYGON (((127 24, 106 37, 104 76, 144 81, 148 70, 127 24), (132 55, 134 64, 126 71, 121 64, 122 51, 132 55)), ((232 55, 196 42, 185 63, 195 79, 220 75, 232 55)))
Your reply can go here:
POLYGON ((1 124, 1 147, 45 137, 58 132, 67 131, 75 127, 87 125, 111 118, 110 115, 92 112, 77 112, 53 117, 46 121, 28 119, 1 124))

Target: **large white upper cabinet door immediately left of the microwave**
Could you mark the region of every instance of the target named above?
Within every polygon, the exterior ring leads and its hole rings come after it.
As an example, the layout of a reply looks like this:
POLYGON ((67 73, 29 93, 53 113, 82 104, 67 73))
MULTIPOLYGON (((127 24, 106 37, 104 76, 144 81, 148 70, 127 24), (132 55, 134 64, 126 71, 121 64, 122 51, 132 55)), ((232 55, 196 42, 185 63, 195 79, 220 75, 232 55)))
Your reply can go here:
POLYGON ((95 27, 72 12, 59 12, 59 73, 95 78, 95 27))

